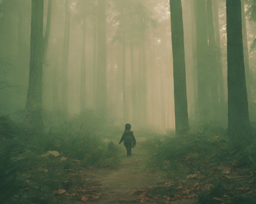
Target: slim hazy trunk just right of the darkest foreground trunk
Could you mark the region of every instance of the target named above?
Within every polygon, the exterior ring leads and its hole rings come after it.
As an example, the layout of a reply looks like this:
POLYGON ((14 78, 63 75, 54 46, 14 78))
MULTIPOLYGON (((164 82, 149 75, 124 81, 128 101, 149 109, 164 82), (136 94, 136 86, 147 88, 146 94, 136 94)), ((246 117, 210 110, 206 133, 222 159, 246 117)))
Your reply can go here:
POLYGON ((244 0, 241 0, 241 11, 242 11, 242 29, 243 29, 243 55, 244 55, 244 68, 245 68, 245 77, 246 77, 246 87, 249 107, 252 103, 252 94, 251 94, 251 82, 250 82, 250 64, 249 64, 249 51, 248 51, 248 41, 247 41, 247 30, 246 30, 246 18, 244 11, 244 0))

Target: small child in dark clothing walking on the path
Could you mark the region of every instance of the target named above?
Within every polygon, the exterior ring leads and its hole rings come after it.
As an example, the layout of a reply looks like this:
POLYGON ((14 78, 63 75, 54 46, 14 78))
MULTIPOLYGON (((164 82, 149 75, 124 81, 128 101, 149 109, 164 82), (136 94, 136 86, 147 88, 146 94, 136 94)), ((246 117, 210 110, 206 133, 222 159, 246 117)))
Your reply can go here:
POLYGON ((131 131, 131 127, 132 126, 129 123, 125 124, 125 130, 119 142, 119 144, 121 144, 121 142, 124 141, 127 156, 132 156, 132 142, 133 145, 136 145, 136 139, 133 135, 133 131, 131 131))

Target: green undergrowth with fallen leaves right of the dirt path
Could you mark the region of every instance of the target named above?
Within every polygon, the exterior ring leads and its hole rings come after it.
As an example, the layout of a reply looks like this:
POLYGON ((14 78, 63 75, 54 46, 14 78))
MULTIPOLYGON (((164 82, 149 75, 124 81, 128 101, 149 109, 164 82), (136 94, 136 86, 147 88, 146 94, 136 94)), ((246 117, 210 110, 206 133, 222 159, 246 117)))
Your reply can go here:
POLYGON ((205 124, 186 135, 150 138, 144 148, 151 152, 148 168, 167 172, 173 184, 172 192, 162 189, 166 203, 179 198, 196 198, 198 203, 256 203, 255 139, 235 145, 225 129, 205 124))

